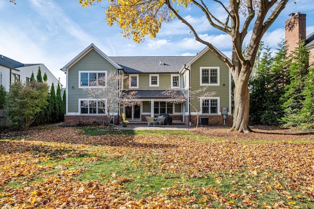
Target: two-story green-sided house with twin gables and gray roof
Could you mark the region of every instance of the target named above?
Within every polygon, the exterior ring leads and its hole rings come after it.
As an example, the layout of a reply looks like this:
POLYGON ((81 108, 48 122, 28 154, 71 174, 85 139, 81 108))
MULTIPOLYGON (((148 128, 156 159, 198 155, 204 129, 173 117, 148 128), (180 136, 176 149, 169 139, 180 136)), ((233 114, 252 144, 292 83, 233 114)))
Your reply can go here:
MULTIPOLYGON (((187 102, 166 102, 169 96, 163 92, 183 89, 188 97, 189 87, 194 91, 209 86, 210 92, 216 92, 213 97, 205 98, 203 102, 201 98, 195 99, 191 103, 198 109, 203 107, 200 116, 208 118, 209 124, 224 123, 222 108, 225 107, 228 111, 225 122, 232 124, 231 72, 208 47, 194 57, 108 57, 91 44, 61 70, 67 74, 66 124, 104 120, 105 114, 86 111, 86 101, 93 98, 84 88, 95 88, 85 84, 111 73, 124 74, 130 82, 128 85, 117 84, 117 88, 136 91, 136 99, 142 101, 141 105, 121 108, 114 114, 115 123, 121 121, 122 113, 126 113, 127 119, 133 122, 146 121, 145 116, 169 114, 174 123, 188 125, 191 120, 191 124, 195 124, 195 110, 187 102)), ((98 109, 98 103, 91 104, 98 109)), ((95 107, 89 108, 95 110, 95 107)))

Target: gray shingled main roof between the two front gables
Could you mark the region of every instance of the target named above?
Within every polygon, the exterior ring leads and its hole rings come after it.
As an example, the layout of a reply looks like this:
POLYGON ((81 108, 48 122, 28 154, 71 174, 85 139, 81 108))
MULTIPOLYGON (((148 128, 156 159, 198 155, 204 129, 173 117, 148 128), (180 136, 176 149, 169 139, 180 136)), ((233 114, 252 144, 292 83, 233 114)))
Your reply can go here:
POLYGON ((125 73, 178 73, 193 57, 110 57, 125 73))

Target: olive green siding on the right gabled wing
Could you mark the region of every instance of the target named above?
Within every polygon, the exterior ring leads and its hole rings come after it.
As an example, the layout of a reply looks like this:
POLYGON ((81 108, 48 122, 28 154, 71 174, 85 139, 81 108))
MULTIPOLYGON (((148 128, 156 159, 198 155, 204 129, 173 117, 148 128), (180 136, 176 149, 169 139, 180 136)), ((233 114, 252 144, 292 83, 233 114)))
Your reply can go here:
MULTIPOLYGON (((209 91, 216 92, 213 97, 220 98, 220 107, 229 107, 229 68, 213 52, 208 50, 191 65, 191 91, 205 87, 200 86, 200 67, 220 67, 220 85, 209 86, 209 91)), ((191 103, 197 109, 200 108, 200 99, 194 99, 191 103)), ((191 112, 195 112, 195 110, 191 108, 191 112)))

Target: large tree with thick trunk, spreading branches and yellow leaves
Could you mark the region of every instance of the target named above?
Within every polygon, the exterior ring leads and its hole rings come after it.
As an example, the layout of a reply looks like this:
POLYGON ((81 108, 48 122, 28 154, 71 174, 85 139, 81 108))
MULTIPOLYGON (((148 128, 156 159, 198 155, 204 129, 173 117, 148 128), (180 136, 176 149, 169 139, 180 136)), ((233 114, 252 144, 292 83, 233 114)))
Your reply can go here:
MULTIPOLYGON (((79 0, 82 6, 100 3, 102 0, 79 0)), ((276 20, 289 0, 109 0, 106 20, 109 25, 117 23, 126 38, 139 43, 146 35, 155 38, 161 23, 178 18, 186 24, 195 39, 207 46, 232 72, 235 81, 235 118, 232 131, 250 132, 248 81, 262 36, 276 20), (227 33, 232 38, 232 62, 222 56, 212 44, 202 39, 196 27, 184 19, 180 8, 195 5, 209 25, 227 33), (218 7, 225 11, 224 20, 214 15, 218 7), (255 20, 255 22, 253 22, 255 20), (252 28, 246 56, 242 47, 244 38, 252 28)), ((194 7, 193 7, 194 8, 194 7)), ((219 15, 221 16, 221 14, 219 15)))

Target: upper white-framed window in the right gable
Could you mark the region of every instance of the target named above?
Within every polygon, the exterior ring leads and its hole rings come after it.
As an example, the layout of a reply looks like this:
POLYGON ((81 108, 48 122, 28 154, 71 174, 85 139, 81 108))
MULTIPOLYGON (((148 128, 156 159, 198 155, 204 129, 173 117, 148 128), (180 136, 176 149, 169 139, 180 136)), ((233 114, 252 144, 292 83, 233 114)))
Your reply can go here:
POLYGON ((219 67, 201 67, 200 86, 219 86, 219 67))

